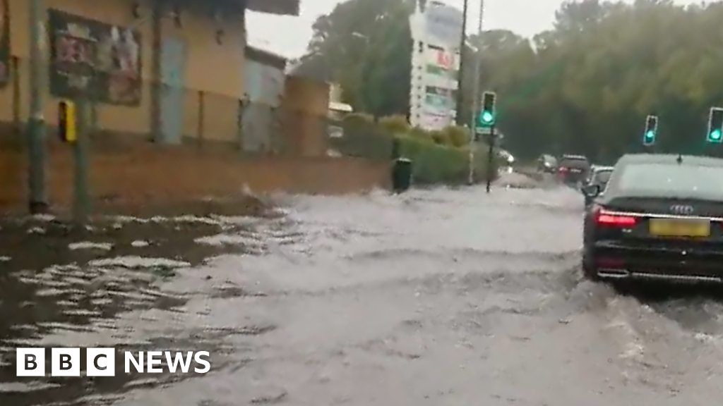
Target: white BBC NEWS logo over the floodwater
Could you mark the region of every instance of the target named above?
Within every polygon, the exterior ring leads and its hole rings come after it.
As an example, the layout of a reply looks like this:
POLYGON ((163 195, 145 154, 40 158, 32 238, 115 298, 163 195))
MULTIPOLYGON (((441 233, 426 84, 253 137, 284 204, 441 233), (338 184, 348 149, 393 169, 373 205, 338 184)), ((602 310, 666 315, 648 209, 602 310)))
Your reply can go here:
MULTIPOLYGON (((17 376, 46 376, 46 348, 17 348, 17 376)), ((208 373, 208 351, 124 351, 125 373, 208 373), (164 368, 165 367, 165 368, 164 368)), ((116 376, 115 348, 87 348, 85 376, 116 376)), ((81 376, 80 348, 51 348, 51 376, 81 376)))

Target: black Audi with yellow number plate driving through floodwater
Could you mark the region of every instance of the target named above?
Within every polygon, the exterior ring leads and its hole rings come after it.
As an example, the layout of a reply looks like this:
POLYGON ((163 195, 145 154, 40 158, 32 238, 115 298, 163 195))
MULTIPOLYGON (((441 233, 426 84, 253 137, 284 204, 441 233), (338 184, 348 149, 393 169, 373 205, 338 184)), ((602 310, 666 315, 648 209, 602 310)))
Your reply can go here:
POLYGON ((586 188, 586 277, 723 281, 723 160, 625 155, 599 192, 586 188))

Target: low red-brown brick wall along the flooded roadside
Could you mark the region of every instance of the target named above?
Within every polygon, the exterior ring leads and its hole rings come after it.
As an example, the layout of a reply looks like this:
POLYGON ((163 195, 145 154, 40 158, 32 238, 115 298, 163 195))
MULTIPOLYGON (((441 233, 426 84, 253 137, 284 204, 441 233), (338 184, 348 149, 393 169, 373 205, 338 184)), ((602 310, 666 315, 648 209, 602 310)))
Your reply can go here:
MULTIPOLYGON (((49 202, 56 210, 72 204, 73 156, 68 145, 48 152, 49 202)), ((27 160, 20 147, 0 142, 0 212, 27 207, 27 160)), ((174 204, 253 191, 344 194, 388 188, 386 163, 328 157, 240 157, 228 145, 218 148, 161 147, 147 142, 95 148, 90 154, 93 204, 174 204)))

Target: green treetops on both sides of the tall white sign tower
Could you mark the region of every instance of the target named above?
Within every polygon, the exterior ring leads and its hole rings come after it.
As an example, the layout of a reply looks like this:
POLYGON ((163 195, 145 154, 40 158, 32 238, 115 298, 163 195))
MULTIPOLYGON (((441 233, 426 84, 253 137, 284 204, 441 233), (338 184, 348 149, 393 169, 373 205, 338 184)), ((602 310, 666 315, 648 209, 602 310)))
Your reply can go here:
MULTIPOLYGON (((340 4, 317 21, 302 70, 340 82, 358 110, 407 113, 413 4, 340 4)), ((567 1, 554 28, 534 38, 492 30, 470 41, 482 53, 482 89, 498 94, 510 150, 526 157, 577 152, 605 162, 641 148, 650 113, 660 117, 662 150, 702 152, 709 108, 723 105, 721 21, 721 3, 567 1)), ((474 55, 467 55, 471 73, 474 55)), ((467 74, 466 118, 471 88, 467 74)))

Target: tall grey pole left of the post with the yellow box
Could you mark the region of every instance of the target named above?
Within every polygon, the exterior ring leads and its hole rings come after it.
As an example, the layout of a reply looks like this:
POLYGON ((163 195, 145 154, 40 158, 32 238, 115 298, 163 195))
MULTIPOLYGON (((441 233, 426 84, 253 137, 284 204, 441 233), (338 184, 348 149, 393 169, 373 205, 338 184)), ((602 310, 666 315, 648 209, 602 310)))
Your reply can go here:
POLYGON ((45 136, 43 116, 43 82, 45 79, 45 5, 43 0, 30 0, 30 118, 27 123, 28 186, 30 213, 37 214, 48 208, 45 191, 45 136))

